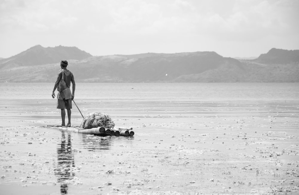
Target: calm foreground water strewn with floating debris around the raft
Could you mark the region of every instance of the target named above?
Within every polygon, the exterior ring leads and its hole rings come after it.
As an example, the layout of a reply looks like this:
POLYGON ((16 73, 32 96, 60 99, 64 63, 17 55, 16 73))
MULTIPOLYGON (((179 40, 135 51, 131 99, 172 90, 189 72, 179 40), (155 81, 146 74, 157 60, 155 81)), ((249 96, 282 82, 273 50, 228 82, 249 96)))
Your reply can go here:
POLYGON ((43 128, 55 101, 1 100, 1 194, 299 193, 298 101, 76 100, 134 137, 43 128))

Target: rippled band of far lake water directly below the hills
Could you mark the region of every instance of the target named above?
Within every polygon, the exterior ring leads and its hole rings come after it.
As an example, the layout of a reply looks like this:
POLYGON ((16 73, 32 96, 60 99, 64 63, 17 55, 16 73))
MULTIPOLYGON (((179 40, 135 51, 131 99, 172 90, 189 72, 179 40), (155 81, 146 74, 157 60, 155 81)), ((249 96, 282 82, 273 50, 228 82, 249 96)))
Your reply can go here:
MULTIPOLYGON (((53 87, 52 83, 0 83, 0 99, 51 99, 53 87)), ((298 88, 299 83, 77 83, 75 99, 297 100, 298 88)))

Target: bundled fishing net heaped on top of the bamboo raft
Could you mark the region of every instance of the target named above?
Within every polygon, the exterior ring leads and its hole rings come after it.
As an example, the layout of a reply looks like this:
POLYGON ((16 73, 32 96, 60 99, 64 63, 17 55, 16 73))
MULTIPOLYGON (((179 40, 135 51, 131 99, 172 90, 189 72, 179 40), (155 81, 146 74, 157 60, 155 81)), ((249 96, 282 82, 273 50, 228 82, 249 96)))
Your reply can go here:
POLYGON ((110 116, 106 113, 90 113, 88 116, 86 116, 81 125, 80 128, 82 129, 91 129, 91 128, 97 128, 97 127, 105 127, 105 128, 113 128, 114 122, 110 118, 110 116))

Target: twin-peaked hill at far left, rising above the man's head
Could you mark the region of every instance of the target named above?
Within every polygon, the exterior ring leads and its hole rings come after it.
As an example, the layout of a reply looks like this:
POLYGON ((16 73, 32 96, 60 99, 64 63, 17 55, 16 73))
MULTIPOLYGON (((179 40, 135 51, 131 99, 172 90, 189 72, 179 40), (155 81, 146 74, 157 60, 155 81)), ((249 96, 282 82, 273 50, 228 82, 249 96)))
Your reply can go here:
POLYGON ((29 66, 29 65, 43 65, 49 63, 59 63, 63 59, 85 59, 90 57, 89 53, 78 49, 77 47, 42 47, 36 45, 29 48, 22 53, 19 53, 10 58, 0 60, 0 69, 5 65, 29 66))

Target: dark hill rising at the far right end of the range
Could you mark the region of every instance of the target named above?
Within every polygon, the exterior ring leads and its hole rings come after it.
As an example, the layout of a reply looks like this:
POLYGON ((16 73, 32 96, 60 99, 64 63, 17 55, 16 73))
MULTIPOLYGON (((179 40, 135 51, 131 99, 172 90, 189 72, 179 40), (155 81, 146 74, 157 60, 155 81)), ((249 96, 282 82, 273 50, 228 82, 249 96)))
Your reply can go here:
POLYGON ((266 64, 289 64, 292 62, 299 62, 299 50, 272 48, 268 53, 261 54, 254 61, 266 64))

